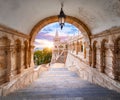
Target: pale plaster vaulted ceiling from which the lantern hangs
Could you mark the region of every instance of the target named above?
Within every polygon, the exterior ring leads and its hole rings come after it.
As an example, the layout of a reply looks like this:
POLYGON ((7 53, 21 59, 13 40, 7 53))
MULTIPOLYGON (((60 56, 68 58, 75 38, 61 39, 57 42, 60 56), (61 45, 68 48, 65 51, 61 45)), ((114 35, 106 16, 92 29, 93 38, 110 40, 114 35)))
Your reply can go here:
POLYGON ((0 24, 30 34, 42 19, 66 15, 84 22, 92 34, 120 26, 120 0, 0 0, 0 24))

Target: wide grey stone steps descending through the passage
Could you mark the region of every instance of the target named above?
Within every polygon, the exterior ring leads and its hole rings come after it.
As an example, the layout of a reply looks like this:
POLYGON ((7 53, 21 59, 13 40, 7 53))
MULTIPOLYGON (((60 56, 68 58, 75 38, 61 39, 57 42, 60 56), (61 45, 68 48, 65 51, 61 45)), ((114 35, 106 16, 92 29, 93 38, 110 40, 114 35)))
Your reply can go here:
POLYGON ((56 64, 30 86, 0 100, 120 100, 120 94, 84 81, 56 64))

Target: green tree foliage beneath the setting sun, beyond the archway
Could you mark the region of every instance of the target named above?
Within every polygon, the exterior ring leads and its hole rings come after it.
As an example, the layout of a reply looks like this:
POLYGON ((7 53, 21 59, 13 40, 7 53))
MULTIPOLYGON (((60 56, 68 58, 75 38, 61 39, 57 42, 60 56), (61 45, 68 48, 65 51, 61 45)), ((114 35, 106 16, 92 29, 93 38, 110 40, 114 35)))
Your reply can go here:
POLYGON ((37 50, 34 52, 34 63, 35 65, 46 64, 51 61, 52 50, 44 48, 43 50, 37 50))

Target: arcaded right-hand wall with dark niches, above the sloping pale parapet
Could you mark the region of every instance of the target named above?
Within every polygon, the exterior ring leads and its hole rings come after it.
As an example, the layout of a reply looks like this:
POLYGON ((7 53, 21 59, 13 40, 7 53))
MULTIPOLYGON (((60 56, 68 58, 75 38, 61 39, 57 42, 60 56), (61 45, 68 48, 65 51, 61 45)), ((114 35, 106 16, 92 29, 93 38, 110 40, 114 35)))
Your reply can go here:
POLYGON ((120 28, 91 36, 92 66, 112 79, 119 80, 120 28))

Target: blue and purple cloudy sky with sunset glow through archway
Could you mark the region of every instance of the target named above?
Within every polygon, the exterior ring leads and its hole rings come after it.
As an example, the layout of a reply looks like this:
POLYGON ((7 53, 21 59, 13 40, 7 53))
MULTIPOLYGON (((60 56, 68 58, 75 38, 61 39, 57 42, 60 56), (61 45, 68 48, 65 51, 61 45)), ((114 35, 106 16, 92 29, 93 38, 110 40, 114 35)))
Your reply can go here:
POLYGON ((56 31, 58 32, 61 41, 65 41, 69 36, 75 36, 81 33, 79 29, 72 24, 65 23, 63 29, 61 30, 58 22, 51 23, 38 32, 34 42, 35 48, 41 49, 45 47, 52 47, 56 31))

